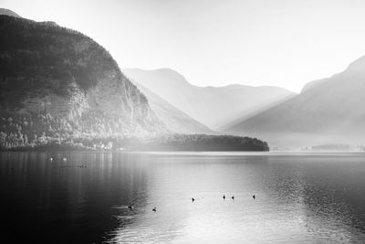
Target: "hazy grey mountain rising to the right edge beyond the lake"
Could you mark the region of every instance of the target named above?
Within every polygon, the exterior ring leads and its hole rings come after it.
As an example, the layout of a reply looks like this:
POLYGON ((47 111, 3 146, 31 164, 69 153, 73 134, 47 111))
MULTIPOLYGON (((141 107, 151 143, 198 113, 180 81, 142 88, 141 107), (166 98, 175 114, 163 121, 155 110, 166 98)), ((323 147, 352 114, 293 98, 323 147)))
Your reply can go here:
POLYGON ((363 143, 365 57, 328 79, 308 83, 297 97, 239 122, 226 133, 260 136, 274 145, 363 143))

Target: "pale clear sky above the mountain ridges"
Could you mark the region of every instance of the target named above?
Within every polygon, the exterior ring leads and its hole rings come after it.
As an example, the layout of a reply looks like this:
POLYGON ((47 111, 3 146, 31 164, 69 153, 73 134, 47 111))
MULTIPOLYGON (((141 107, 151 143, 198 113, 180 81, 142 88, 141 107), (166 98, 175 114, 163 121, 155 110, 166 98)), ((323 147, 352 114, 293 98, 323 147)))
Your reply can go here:
POLYGON ((199 86, 299 91, 365 55, 365 0, 0 0, 94 38, 120 68, 172 68, 199 86))

